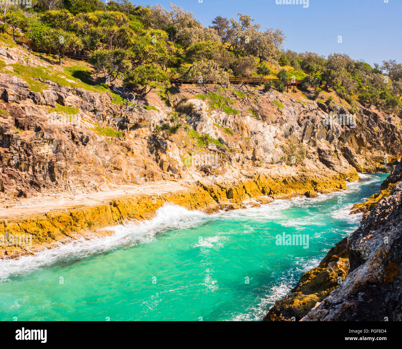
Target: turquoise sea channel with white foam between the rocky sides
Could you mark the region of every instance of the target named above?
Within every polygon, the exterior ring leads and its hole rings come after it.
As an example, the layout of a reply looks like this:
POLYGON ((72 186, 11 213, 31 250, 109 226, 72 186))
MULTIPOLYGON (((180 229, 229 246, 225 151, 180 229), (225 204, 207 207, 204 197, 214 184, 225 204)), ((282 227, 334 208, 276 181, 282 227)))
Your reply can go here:
POLYGON ((212 215, 166 205, 113 236, 2 261, 0 320, 261 320, 359 226, 348 208, 386 176, 212 215), (308 248, 277 245, 283 232, 309 235, 308 248))

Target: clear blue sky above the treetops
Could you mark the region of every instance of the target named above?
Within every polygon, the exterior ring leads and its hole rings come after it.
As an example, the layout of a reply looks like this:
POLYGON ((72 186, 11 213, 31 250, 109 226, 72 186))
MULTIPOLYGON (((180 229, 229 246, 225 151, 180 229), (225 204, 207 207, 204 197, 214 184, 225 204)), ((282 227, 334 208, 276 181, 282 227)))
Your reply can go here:
POLYGON ((371 65, 388 59, 402 63, 402 0, 310 0, 308 8, 277 5, 275 0, 202 1, 132 0, 136 5, 165 8, 172 2, 193 12, 204 26, 216 16, 237 19, 239 12, 249 14, 263 29, 281 29, 286 36, 283 47, 296 52, 346 53, 371 65), (338 43, 338 35, 343 43, 338 43))

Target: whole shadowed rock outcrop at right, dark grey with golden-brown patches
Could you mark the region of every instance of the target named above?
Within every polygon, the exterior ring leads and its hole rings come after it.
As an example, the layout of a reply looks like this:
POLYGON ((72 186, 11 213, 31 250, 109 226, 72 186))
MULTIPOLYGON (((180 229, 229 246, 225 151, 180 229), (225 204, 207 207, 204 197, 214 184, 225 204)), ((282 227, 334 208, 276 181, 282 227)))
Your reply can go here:
POLYGON ((275 302, 265 321, 402 319, 400 180, 401 164, 394 165, 381 185, 385 189, 353 206, 354 213, 366 212, 361 227, 336 244, 318 267, 304 273, 291 294, 275 302), (336 282, 328 267, 342 280, 336 282))

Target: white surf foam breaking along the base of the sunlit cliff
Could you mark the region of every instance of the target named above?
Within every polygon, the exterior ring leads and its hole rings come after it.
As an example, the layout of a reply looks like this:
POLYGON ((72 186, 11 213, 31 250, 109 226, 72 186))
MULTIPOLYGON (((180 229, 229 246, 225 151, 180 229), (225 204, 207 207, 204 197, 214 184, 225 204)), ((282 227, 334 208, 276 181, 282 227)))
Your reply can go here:
MULTIPOLYGON (((359 173, 364 179, 365 184, 367 180, 374 182, 377 179, 375 176, 366 173, 359 173)), ((299 208, 304 205, 309 205, 314 202, 321 202, 333 198, 335 196, 345 196, 348 191, 355 190, 362 184, 362 181, 353 182, 348 184, 349 189, 343 192, 336 192, 330 194, 321 194, 317 198, 297 197, 292 200, 275 200, 274 202, 261 207, 248 208, 247 210, 239 209, 229 212, 218 212, 207 216, 199 211, 189 211, 183 207, 165 204, 157 210, 156 217, 152 220, 142 222, 129 222, 126 225, 118 225, 116 227, 109 227, 106 229, 115 231, 115 234, 108 237, 92 238, 90 240, 80 237, 74 242, 60 245, 53 249, 45 250, 36 253, 34 256, 25 256, 20 259, 3 260, 0 261, 0 282, 7 280, 12 276, 21 275, 31 272, 35 269, 48 267, 57 262, 68 262, 73 260, 84 259, 94 254, 111 251, 119 247, 129 247, 139 243, 148 243, 156 238, 158 233, 162 233, 167 229, 186 229, 197 227, 203 224, 206 220, 213 218, 227 218, 236 220, 276 220, 284 222, 283 225, 287 226, 303 226, 320 224, 317 221, 311 220, 310 217, 304 217, 300 222, 296 220, 289 220, 285 212, 289 208, 299 208), (304 224, 303 220, 306 221, 304 224)), ((253 200, 251 200, 253 201, 253 200)), ((350 221, 358 222, 361 215, 349 216, 350 204, 341 206, 339 210, 334 211, 333 218, 347 219, 350 221)), ((323 213, 325 214, 325 213, 323 213)), ((212 247, 217 241, 204 241, 205 247, 212 247)))

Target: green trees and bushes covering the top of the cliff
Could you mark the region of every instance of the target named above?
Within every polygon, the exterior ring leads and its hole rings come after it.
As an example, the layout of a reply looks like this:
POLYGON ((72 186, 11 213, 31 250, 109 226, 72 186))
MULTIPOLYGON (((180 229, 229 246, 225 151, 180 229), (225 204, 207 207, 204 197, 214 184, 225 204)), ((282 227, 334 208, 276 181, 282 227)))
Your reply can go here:
MULTIPOLYGON (((251 16, 241 13, 238 19, 217 16, 209 27, 203 27, 191 12, 175 5, 166 10, 161 5, 133 6, 125 0, 107 5, 88 0, 38 1, 33 8, 23 7, 6 5, 2 27, 12 33, 21 30, 28 39, 53 47, 60 64, 66 51, 85 52, 96 69, 96 87, 90 86, 88 68, 69 68, 85 88, 109 90, 106 83, 119 81, 124 88, 147 95, 167 88, 169 74, 174 74, 226 86, 229 76, 276 78, 265 88, 283 92, 293 78, 302 80, 304 88, 313 88, 317 98, 321 91, 332 90, 351 110, 359 102, 401 115, 400 63, 389 60, 371 67, 340 53, 324 57, 284 51, 281 30, 262 31, 251 16)), ((0 40, 13 44, 5 35, 0 40)), ((40 84, 35 84, 34 90, 39 91, 40 84)), ((118 94, 114 102, 122 102, 118 94)), ((209 104, 237 114, 231 103, 220 97, 209 96, 209 104)))

